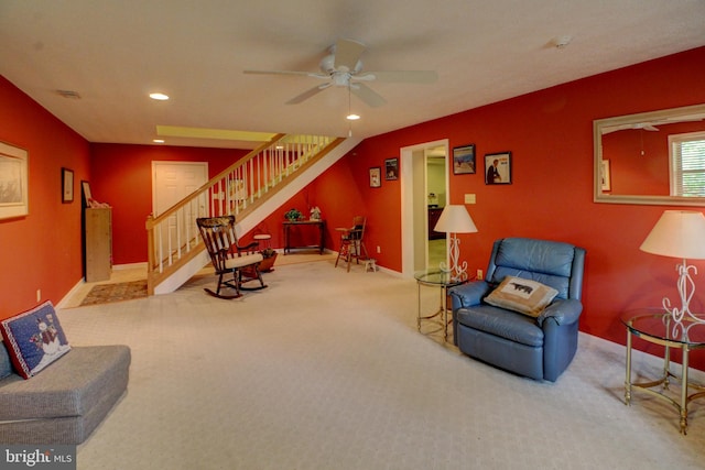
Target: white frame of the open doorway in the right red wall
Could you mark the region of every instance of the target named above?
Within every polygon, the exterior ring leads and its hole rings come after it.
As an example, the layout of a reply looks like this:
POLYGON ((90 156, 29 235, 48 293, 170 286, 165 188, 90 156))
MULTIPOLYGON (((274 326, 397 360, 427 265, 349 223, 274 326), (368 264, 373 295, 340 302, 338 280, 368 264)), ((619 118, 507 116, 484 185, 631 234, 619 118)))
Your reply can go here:
MULTIPOLYGON (((442 139, 432 142, 424 142, 415 145, 403 146, 399 150, 401 164, 401 274, 402 277, 413 277, 416 263, 416 248, 420 243, 426 244, 429 211, 426 203, 426 177, 425 177, 425 151, 431 147, 445 147, 445 204, 448 204, 451 197, 451 178, 448 175, 448 139, 442 139), (419 159, 422 159, 423 165, 417 165, 419 159), (416 163, 416 164, 414 164, 416 163), (419 166, 424 170, 419 170, 419 166), (419 172, 423 171, 423 184, 419 183, 419 172), (423 207, 421 206, 423 201, 423 207), (423 216, 417 216, 422 214, 423 216), (416 215, 416 216, 415 216, 416 215), (419 227, 423 218, 423 227, 425 233, 421 233, 419 227)), ((446 239, 447 243, 447 239, 446 239)), ((447 248, 446 248, 447 252, 447 248)), ((427 256, 427 254, 426 254, 427 256)), ((425 263, 425 260, 424 260, 425 263)))

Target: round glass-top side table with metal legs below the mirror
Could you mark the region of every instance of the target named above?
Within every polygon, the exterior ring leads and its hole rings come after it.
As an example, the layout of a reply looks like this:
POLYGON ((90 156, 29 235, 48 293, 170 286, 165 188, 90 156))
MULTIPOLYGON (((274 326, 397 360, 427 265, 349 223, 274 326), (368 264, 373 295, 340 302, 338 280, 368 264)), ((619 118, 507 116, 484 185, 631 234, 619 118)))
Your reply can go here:
POLYGON ((687 405, 693 400, 705 396, 705 387, 688 381, 688 356, 694 349, 705 348, 705 324, 684 319, 681 323, 673 321, 671 315, 662 308, 640 308, 628 310, 621 316, 622 324, 627 327, 627 374, 625 379, 625 402, 631 402, 632 389, 638 389, 651 394, 666 403, 672 404, 681 415, 681 433, 687 434, 687 405), (653 345, 664 347, 663 374, 660 379, 650 382, 631 381, 631 340, 632 336, 639 337, 653 345), (681 376, 671 372, 671 348, 683 351, 681 376), (680 400, 676 401, 666 394, 671 379, 681 384, 680 400), (690 389, 695 393, 688 395, 690 389))

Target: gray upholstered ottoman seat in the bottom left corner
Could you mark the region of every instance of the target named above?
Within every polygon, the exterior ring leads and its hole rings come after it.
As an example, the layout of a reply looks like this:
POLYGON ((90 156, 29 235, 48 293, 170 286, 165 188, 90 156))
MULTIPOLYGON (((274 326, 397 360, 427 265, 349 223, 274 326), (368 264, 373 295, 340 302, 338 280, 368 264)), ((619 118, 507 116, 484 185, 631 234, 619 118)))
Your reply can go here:
POLYGON ((130 360, 127 346, 74 347, 29 380, 0 380, 0 442, 83 442, 126 392, 130 360))

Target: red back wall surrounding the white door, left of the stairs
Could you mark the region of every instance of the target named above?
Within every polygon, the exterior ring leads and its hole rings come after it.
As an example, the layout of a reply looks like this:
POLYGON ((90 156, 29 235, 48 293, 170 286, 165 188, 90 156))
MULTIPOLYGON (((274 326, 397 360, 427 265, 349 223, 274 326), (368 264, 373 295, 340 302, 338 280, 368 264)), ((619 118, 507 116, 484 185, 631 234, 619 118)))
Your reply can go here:
POLYGON ((213 177, 247 150, 196 149, 160 145, 90 145, 93 198, 112 207, 112 261, 115 264, 147 261, 144 222, 152 214, 152 162, 207 162, 213 177))

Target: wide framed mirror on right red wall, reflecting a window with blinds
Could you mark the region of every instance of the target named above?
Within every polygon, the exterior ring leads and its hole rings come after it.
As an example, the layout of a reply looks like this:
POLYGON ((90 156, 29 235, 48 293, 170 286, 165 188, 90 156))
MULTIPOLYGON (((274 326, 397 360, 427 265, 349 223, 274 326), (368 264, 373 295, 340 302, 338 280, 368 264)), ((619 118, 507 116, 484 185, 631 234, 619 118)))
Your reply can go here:
POLYGON ((705 105, 598 119, 594 200, 705 206, 705 105))

